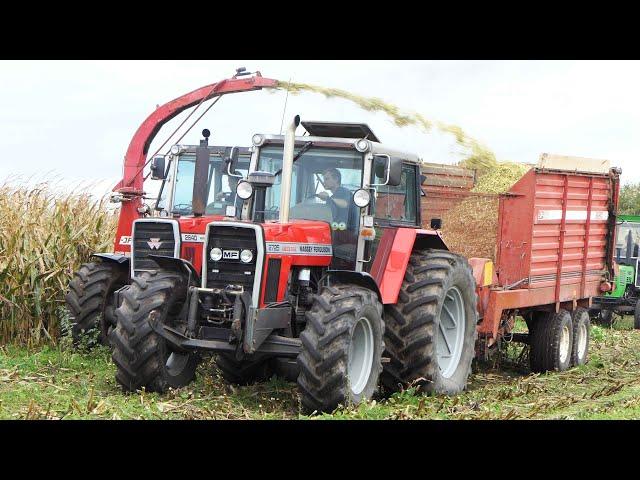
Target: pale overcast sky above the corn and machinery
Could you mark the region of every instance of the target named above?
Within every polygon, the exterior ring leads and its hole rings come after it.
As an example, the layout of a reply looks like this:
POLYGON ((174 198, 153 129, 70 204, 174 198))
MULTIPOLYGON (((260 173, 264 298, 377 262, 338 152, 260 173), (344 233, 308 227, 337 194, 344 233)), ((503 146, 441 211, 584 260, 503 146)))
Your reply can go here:
MULTIPOLYGON (((540 153, 603 158, 640 181, 638 61, 0 61, 0 181, 55 178, 66 186, 121 177, 131 137, 155 109, 244 66, 263 76, 341 88, 462 127, 501 160, 540 153)), ((250 144, 279 133, 284 92, 224 97, 181 142, 203 128, 212 144, 250 144)), ((364 122, 384 143, 425 161, 455 163, 443 135, 398 128, 346 100, 289 96, 287 116, 364 122)), ((184 118, 160 131, 155 151, 184 118)), ((301 129, 300 132, 303 130, 301 129)))

